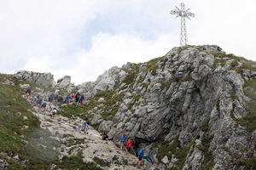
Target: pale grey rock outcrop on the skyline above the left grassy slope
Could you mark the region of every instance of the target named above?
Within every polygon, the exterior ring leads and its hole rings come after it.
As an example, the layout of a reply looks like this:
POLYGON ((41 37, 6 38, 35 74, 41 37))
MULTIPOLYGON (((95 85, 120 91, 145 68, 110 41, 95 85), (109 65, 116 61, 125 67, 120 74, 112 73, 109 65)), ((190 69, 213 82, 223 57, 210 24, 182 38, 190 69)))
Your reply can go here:
POLYGON ((28 82, 36 82, 48 88, 55 87, 54 76, 51 73, 38 73, 33 71, 18 71, 15 78, 26 80, 28 82))

